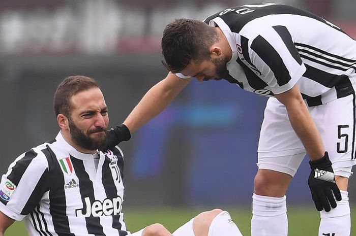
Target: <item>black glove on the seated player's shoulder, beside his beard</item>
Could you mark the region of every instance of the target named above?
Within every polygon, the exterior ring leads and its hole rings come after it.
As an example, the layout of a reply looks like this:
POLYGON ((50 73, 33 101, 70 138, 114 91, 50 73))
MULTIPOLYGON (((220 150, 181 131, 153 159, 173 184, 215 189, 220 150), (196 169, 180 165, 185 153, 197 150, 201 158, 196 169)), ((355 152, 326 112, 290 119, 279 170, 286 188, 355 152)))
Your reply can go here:
POLYGON ((128 141, 131 139, 130 130, 125 124, 117 125, 115 128, 111 128, 106 133, 106 143, 99 150, 106 152, 108 149, 114 148, 117 144, 128 141))

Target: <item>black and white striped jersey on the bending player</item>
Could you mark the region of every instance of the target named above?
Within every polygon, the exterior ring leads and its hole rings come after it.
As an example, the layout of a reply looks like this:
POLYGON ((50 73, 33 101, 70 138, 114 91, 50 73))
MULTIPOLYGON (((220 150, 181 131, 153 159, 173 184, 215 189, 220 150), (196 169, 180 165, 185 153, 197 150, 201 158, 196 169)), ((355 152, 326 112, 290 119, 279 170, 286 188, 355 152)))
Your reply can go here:
POLYGON ((223 31, 233 52, 224 79, 247 91, 273 96, 298 84, 309 106, 354 92, 356 41, 318 16, 257 4, 226 9, 204 22, 223 31))

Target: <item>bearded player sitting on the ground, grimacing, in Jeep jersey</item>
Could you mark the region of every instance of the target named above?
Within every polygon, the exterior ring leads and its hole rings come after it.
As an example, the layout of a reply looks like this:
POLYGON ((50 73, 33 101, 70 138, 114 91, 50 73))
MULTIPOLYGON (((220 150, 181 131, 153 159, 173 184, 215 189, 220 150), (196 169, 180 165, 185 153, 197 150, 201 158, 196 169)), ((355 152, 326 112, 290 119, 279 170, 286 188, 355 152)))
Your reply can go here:
MULTIPOLYGON (((109 117, 97 82, 64 79, 54 111, 61 128, 55 139, 20 155, 2 177, 0 235, 23 220, 29 236, 171 236, 158 223, 135 233, 126 228, 123 153, 98 150, 105 147, 109 117)), ((173 235, 242 236, 220 209, 200 213, 173 235)))

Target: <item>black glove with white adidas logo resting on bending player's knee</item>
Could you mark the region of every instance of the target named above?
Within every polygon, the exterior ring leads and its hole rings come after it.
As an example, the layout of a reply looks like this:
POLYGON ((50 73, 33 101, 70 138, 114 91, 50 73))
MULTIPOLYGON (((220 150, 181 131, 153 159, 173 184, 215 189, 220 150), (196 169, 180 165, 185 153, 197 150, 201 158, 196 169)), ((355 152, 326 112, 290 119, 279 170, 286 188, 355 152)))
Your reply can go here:
POLYGON ((336 208, 335 198, 340 201, 341 193, 335 183, 334 171, 331 167, 328 152, 325 152, 325 155, 319 160, 309 161, 309 164, 312 170, 309 175, 308 185, 315 207, 318 211, 324 209, 325 212, 329 212, 331 210, 330 206, 336 208))

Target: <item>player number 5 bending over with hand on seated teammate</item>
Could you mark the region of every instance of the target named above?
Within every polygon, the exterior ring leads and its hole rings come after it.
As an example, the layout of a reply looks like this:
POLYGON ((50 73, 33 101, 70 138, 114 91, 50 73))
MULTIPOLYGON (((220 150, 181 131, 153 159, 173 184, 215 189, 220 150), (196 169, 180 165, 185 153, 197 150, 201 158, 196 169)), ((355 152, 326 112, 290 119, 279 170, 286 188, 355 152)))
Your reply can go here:
MULTIPOLYGON (((318 235, 350 235, 347 189, 356 164, 352 38, 310 12, 282 4, 252 4, 227 8, 204 21, 169 23, 162 53, 167 77, 143 96, 119 127, 137 130, 192 78, 224 80, 269 96, 257 150, 252 236, 287 235, 285 194, 306 153, 311 198, 320 211, 318 235)), ((118 132, 117 137, 120 142, 125 136, 118 132)), ((236 179, 235 184, 243 183, 236 179)))

